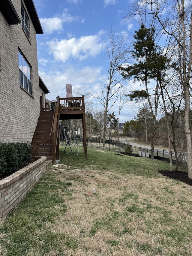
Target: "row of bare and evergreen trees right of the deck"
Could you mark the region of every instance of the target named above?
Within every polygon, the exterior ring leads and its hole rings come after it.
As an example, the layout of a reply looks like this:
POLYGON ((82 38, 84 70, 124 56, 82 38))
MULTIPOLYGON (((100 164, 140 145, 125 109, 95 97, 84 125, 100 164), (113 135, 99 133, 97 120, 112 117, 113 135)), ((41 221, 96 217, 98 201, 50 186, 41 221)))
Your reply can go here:
MULTIPOLYGON (((115 29, 109 32, 104 43, 108 66, 100 90, 92 95, 101 109, 87 105, 87 134, 98 134, 104 150, 113 126, 109 126, 110 112, 116 109, 111 114, 119 122, 130 102, 140 105, 135 119, 126 122, 127 132, 139 134, 143 129, 140 136, 144 134, 151 144, 152 160, 156 140, 166 141, 170 156, 172 148, 175 155, 186 150, 188 178, 192 178, 192 4, 135 0, 124 19, 135 20, 138 29, 134 35, 115 29)), ((170 157, 170 171, 171 161, 170 157)))

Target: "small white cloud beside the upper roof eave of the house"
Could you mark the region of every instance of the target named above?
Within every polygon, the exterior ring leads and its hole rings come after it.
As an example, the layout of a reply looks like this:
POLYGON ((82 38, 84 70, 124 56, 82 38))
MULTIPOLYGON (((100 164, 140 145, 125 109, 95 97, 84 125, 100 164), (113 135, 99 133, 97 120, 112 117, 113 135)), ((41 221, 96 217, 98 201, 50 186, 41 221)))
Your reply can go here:
POLYGON ((45 33, 51 34, 53 31, 62 30, 62 20, 55 18, 41 18, 41 25, 45 33))

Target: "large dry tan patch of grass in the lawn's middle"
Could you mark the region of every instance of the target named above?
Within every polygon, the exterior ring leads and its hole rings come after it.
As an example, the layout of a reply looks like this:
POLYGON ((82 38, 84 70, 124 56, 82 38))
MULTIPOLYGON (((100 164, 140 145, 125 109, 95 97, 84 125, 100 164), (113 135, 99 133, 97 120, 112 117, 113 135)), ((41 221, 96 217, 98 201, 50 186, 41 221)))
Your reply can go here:
POLYGON ((148 179, 110 171, 74 172, 58 174, 61 182, 72 182, 73 192, 69 197, 58 190, 67 212, 46 226, 77 241, 75 250, 65 244, 63 255, 191 255, 190 243, 184 252, 177 239, 166 235, 174 227, 179 232, 192 220, 191 205, 178 202, 192 195, 190 186, 182 189, 182 183, 163 176, 148 179))

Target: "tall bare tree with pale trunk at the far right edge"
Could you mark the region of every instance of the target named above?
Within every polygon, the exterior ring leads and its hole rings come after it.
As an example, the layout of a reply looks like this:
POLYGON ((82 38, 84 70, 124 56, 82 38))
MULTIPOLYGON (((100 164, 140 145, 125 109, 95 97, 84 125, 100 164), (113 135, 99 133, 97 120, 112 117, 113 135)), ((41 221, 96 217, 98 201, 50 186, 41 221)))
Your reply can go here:
POLYGON ((165 34, 176 42, 179 75, 184 92, 184 131, 187 141, 187 171, 192 179, 192 139, 189 125, 192 75, 192 3, 187 0, 141 0, 133 3, 134 14, 152 15, 165 34), (145 6, 145 10, 143 9, 145 6))

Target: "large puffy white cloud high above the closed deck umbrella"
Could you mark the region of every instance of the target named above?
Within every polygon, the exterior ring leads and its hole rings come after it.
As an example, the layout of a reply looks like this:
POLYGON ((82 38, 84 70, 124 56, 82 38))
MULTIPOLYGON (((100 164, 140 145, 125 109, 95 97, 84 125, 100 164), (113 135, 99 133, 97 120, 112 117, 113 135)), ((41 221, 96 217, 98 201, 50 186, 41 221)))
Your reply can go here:
POLYGON ((70 57, 80 61, 91 56, 98 55, 102 50, 102 43, 98 35, 82 36, 79 39, 70 38, 52 39, 47 42, 49 53, 53 54, 55 60, 65 62, 70 57))

